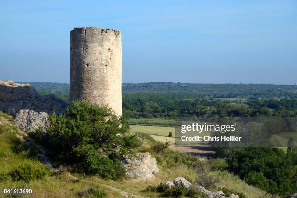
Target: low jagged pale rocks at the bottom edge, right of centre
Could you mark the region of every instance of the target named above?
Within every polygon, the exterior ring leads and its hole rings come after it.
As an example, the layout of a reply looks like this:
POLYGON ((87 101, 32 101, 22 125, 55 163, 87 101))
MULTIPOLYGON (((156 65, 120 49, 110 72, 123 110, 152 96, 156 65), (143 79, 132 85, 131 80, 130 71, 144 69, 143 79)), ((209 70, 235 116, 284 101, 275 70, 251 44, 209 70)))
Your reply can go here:
POLYGON ((230 196, 226 196, 223 191, 212 192, 212 191, 206 190, 201 185, 192 185, 189 181, 187 181, 183 177, 177 177, 173 181, 165 182, 165 185, 168 187, 172 187, 174 185, 179 185, 179 184, 181 186, 184 186, 187 189, 194 188, 196 190, 199 190, 210 198, 239 198, 238 195, 231 194, 230 196))

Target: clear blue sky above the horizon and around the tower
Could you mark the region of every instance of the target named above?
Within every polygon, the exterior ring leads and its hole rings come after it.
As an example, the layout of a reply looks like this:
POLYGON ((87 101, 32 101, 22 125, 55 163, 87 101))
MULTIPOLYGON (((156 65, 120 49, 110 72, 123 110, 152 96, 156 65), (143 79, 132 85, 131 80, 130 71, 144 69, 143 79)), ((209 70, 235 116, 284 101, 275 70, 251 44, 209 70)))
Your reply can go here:
POLYGON ((84 26, 122 31, 123 82, 297 82, 296 0, 0 0, 0 79, 69 83, 84 26))

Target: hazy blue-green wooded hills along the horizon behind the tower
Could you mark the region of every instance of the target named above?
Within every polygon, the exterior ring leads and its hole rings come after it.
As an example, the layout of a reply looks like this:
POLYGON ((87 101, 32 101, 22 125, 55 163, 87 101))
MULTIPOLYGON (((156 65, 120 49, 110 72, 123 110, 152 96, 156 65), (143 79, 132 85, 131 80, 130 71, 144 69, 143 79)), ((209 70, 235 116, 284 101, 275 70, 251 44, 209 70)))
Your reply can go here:
MULTIPOLYGON (((26 82, 22 82, 26 83, 26 82)), ((67 83, 30 82, 38 92, 69 93, 67 83)), ((214 98, 290 97, 297 98, 297 86, 273 84, 198 84, 173 82, 123 83, 123 92, 192 92, 214 98)))

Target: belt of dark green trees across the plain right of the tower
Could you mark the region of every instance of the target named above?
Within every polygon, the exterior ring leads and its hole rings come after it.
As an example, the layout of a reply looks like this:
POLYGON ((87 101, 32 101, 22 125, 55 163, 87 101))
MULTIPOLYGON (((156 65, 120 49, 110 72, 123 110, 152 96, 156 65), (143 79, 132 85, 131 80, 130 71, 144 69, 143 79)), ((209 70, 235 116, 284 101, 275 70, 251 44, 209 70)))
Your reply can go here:
POLYGON ((191 93, 124 93, 123 112, 129 118, 297 116, 297 99, 248 99, 246 103, 234 103, 189 96, 191 93))

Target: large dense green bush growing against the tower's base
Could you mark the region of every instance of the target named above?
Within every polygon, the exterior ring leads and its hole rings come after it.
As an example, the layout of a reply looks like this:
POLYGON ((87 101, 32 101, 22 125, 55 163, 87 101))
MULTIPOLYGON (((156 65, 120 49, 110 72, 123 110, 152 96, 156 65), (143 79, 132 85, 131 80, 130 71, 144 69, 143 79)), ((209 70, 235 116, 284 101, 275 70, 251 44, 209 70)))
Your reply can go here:
POLYGON ((66 114, 53 114, 49 121, 44 145, 56 159, 86 174, 121 179, 122 156, 140 145, 136 135, 127 133, 126 120, 98 105, 76 101, 66 114))

